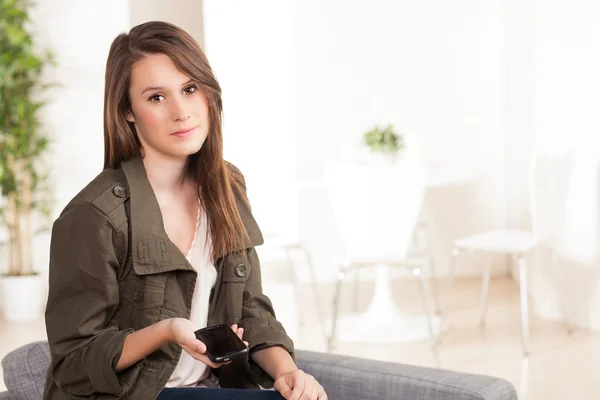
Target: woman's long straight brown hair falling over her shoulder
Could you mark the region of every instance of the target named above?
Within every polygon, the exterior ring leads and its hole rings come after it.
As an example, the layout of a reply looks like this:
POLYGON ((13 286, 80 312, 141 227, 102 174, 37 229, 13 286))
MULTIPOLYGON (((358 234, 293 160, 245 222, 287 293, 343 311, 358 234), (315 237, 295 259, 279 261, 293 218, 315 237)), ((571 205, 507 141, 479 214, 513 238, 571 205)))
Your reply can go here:
POLYGON ((104 88, 104 168, 141 156, 133 123, 129 85, 132 66, 150 54, 165 54, 195 81, 208 99, 209 132, 200 151, 188 157, 186 175, 195 180, 206 210, 212 239, 211 254, 242 249, 247 232, 236 206, 234 191, 247 203, 241 174, 223 160, 221 87, 198 43, 184 30, 166 22, 138 25, 113 41, 106 63, 104 88))

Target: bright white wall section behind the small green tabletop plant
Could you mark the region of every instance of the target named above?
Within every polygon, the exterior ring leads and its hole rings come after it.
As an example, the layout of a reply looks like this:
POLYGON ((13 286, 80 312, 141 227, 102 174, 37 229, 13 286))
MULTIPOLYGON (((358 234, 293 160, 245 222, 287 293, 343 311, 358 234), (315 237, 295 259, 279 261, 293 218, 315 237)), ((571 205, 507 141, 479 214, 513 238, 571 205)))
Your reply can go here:
POLYGON ((502 162, 502 1, 294 5, 303 175, 388 121, 426 160, 502 162))

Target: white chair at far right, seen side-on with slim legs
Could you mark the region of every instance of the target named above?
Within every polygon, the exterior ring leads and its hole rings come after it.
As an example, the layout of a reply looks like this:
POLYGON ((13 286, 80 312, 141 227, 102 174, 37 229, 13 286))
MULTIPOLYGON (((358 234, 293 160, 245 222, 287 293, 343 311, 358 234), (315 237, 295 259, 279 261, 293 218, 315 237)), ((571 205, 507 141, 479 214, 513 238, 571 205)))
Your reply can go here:
MULTIPOLYGON (((570 177, 575 164, 575 153, 565 152, 557 156, 536 155, 529 170, 529 207, 532 220, 532 231, 514 229, 491 230, 476 233, 454 241, 450 262, 449 293, 452 295, 452 284, 458 256, 464 251, 488 253, 504 253, 517 261, 520 282, 521 334, 523 353, 529 355, 529 306, 526 257, 543 246, 550 252, 551 265, 556 268, 554 248, 563 232, 565 223, 565 203, 569 190, 570 177)), ((487 299, 490 282, 490 265, 483 270, 481 289, 481 326, 485 325, 487 299)), ((561 290, 557 290, 558 293, 561 290)), ((562 311, 570 332, 569 318, 564 299, 561 296, 562 311)))

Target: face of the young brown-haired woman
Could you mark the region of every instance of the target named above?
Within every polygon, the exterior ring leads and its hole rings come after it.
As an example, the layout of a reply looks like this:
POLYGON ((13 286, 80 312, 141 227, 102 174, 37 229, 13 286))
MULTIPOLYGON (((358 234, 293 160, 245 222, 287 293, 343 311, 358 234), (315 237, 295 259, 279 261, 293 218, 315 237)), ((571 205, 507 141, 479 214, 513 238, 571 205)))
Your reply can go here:
POLYGON ((209 130, 208 101, 164 54, 151 54, 131 69, 131 111, 147 158, 182 159, 197 153, 209 130))

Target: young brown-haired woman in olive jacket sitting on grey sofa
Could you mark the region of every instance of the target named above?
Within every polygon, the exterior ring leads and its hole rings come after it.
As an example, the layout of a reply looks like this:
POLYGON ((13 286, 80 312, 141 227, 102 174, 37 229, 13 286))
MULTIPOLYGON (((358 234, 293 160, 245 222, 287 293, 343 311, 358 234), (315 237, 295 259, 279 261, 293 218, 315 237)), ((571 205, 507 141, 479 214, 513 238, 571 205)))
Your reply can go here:
POLYGON ((45 399, 327 399, 262 293, 262 235, 221 114, 186 32, 149 22, 114 40, 104 170, 52 229, 45 399), (194 332, 215 324, 249 356, 212 363, 194 332))

